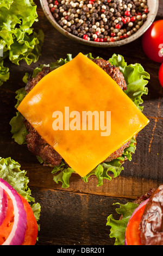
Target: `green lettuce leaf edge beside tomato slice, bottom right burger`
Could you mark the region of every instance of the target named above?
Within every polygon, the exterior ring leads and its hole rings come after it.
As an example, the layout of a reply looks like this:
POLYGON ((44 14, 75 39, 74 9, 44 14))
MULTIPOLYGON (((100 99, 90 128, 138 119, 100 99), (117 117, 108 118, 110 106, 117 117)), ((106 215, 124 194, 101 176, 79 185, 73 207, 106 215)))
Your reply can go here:
POLYGON ((121 220, 115 220, 115 218, 111 214, 107 218, 106 225, 111 227, 109 236, 111 238, 115 238, 115 245, 124 245, 127 223, 134 210, 138 207, 138 204, 130 202, 128 202, 127 204, 115 204, 120 205, 120 208, 117 208, 116 212, 123 217, 121 218, 121 220))

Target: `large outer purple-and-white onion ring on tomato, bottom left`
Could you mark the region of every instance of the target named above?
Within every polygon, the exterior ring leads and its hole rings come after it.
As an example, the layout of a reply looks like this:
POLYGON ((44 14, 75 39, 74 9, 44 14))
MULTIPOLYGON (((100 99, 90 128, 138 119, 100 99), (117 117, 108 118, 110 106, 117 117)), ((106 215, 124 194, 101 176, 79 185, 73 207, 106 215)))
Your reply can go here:
POLYGON ((14 206, 14 224, 10 235, 3 245, 22 245, 24 241, 24 235, 27 228, 27 214, 24 210, 24 206, 21 197, 18 195, 16 190, 11 187, 7 181, 0 178, 0 187, 5 190, 12 200, 14 206))

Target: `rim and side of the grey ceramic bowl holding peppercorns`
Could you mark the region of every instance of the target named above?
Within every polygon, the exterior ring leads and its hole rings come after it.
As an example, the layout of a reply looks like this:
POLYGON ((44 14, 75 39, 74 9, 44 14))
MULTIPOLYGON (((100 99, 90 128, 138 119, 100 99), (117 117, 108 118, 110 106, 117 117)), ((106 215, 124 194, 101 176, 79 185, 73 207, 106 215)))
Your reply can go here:
POLYGON ((82 38, 79 38, 78 36, 75 36, 69 32, 67 32, 64 28, 58 25, 58 23, 55 21, 49 7, 48 7, 48 2, 47 0, 40 0, 41 7, 43 9, 43 12, 45 13, 47 19, 51 24, 56 28, 60 33, 64 34, 68 38, 75 40, 77 42, 80 42, 85 45, 89 46, 96 46, 96 47, 115 47, 115 46, 121 46, 128 44, 129 42, 132 42, 139 38, 143 33, 147 31, 147 29, 151 26, 153 21, 155 20, 155 17, 158 13, 158 8, 159 8, 159 0, 148 0, 148 16, 147 20, 143 23, 143 25, 140 27, 140 29, 137 30, 136 33, 133 35, 129 36, 126 39, 119 40, 119 41, 114 41, 114 42, 95 42, 95 41, 88 41, 84 40, 82 38))

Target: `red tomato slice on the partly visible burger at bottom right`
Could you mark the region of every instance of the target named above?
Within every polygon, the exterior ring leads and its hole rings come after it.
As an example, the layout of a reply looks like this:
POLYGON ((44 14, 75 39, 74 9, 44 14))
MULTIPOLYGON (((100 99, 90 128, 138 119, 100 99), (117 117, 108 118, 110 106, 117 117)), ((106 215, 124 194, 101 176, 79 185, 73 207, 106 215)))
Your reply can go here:
POLYGON ((131 216, 126 228, 126 242, 127 245, 142 245, 140 240, 139 224, 146 204, 143 204, 139 210, 136 210, 131 216))

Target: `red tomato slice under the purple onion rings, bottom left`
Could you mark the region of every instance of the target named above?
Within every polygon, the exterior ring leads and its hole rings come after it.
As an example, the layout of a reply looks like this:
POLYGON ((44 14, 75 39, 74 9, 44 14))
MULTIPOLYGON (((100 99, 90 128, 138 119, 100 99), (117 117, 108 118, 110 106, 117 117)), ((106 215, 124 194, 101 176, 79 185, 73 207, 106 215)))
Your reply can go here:
MULTIPOLYGON (((27 229, 26 229, 26 234, 24 236, 24 242, 22 243, 22 245, 35 245, 36 239, 37 239, 37 231, 38 231, 37 222, 33 214, 33 210, 30 207, 30 204, 20 194, 19 196, 22 199, 24 209, 27 214, 27 229)), ((2 245, 4 241, 7 239, 7 237, 9 236, 12 230, 13 224, 14 224, 14 206, 12 204, 11 198, 8 196, 7 215, 2 225, 0 226, 0 245, 2 245)))

